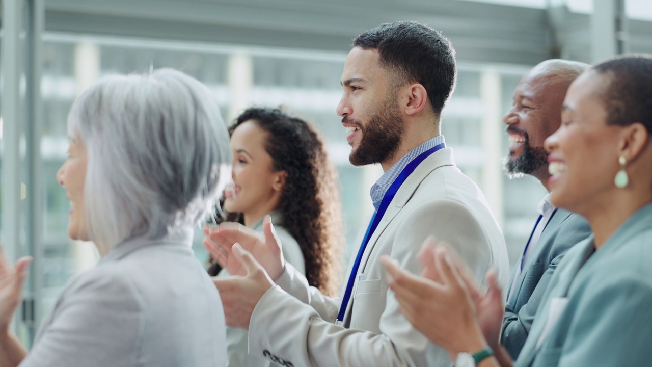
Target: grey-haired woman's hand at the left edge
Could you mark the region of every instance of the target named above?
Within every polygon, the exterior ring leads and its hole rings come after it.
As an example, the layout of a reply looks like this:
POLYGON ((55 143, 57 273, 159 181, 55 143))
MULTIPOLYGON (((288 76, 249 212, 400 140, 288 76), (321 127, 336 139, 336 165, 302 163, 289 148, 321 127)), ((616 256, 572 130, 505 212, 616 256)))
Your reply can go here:
POLYGON ((5 249, 0 245, 0 331, 8 332, 14 311, 22 299, 23 283, 27 278, 27 264, 31 257, 16 261, 16 266, 7 259, 5 249))

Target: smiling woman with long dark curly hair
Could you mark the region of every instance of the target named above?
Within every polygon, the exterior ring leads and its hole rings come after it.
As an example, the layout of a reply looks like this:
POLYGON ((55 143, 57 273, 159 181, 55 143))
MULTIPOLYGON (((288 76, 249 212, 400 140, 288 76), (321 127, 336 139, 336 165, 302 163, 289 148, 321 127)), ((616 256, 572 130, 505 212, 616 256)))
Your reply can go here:
MULTIPOLYGON (((334 296, 344 240, 337 174, 321 138, 306 121, 276 108, 249 108, 229 131, 233 186, 224 210, 260 232, 263 217, 271 215, 284 258, 310 285, 334 296)), ((227 343, 230 366, 271 363, 247 355, 246 330, 228 328, 227 343)))

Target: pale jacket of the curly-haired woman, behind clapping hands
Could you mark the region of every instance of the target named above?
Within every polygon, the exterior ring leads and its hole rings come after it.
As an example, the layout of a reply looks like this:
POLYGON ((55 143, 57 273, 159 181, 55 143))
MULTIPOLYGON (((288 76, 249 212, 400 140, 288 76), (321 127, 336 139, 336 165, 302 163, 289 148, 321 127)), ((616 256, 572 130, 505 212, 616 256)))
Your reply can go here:
MULTIPOLYGON (((297 271, 301 274, 306 274, 304 268, 303 253, 297 240, 289 234, 283 227, 282 215, 278 212, 271 212, 274 224, 274 231, 282 244, 282 251, 284 259, 292 264, 297 271)), ((260 219, 252 229, 254 231, 263 232, 263 219, 260 219)), ((231 276, 226 269, 222 269, 218 278, 227 278, 231 276)), ((260 357, 258 355, 250 355, 247 353, 248 349, 248 332, 243 328, 226 328, 226 349, 228 352, 229 360, 227 366, 229 367, 267 367, 279 366, 269 359, 260 357)))

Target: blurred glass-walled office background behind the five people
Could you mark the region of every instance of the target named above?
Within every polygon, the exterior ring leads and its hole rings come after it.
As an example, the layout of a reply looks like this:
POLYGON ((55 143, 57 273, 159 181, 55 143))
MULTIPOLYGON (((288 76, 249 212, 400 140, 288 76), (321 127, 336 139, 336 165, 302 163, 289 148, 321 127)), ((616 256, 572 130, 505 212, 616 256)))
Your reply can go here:
MULTIPOLYGON (((544 59, 593 63, 652 53, 650 0, 1 0, 0 238, 11 261, 31 255, 14 321, 29 344, 74 274, 98 260, 67 236, 69 203, 55 180, 72 101, 114 72, 173 67, 215 93, 230 123, 252 104, 287 106, 321 132, 340 176, 346 259, 373 207, 381 168, 353 167, 335 107, 351 40, 395 20, 442 31, 457 51, 458 84, 442 116, 458 166, 484 191, 520 256, 545 194, 509 180, 502 115, 520 77, 544 59)), ((196 256, 205 261, 198 229, 196 256)))

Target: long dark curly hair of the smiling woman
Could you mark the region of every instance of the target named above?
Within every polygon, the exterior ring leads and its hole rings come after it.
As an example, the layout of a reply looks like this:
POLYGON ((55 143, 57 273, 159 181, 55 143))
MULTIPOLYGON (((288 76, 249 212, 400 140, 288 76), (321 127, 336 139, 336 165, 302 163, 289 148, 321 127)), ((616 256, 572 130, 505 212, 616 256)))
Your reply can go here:
MULTIPOLYGON (((342 207, 337 172, 321 138, 306 121, 280 108, 249 108, 229 133, 245 121, 254 121, 267 133, 265 151, 273 170, 288 172, 276 210, 301 248, 308 283, 324 295, 336 296, 344 243, 342 207)), ((231 220, 241 219, 228 215, 231 220)))

